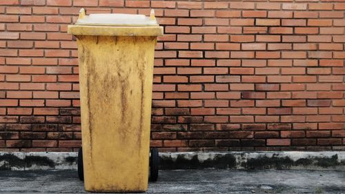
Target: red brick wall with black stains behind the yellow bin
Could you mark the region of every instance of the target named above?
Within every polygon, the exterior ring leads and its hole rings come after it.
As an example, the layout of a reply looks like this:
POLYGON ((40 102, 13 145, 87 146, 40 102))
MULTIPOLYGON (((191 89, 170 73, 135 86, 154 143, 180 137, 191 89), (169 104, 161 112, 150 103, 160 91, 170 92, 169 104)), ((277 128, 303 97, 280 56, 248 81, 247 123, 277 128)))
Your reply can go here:
POLYGON ((148 14, 152 146, 162 151, 332 150, 345 145, 341 0, 0 1, 1 151, 72 151, 80 111, 75 39, 87 12, 148 14))

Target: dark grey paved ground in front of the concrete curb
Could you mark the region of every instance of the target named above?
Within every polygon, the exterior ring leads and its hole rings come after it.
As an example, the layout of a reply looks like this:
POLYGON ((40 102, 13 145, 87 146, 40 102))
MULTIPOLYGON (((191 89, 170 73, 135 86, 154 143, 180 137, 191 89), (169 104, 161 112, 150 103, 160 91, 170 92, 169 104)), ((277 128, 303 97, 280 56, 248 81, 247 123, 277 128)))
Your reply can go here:
MULTIPOLYGON (((86 193, 77 171, 0 171, 0 193, 86 193)), ((345 193, 340 171, 160 171, 147 193, 345 193)))

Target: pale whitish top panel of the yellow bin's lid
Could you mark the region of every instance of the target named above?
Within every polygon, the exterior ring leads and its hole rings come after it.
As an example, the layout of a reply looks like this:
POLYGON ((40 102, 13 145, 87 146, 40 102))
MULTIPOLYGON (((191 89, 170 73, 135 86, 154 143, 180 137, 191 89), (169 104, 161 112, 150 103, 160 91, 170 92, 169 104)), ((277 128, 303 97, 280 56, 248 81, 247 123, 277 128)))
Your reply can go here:
POLYGON ((80 26, 158 26, 156 19, 144 14, 89 14, 79 18, 80 26))

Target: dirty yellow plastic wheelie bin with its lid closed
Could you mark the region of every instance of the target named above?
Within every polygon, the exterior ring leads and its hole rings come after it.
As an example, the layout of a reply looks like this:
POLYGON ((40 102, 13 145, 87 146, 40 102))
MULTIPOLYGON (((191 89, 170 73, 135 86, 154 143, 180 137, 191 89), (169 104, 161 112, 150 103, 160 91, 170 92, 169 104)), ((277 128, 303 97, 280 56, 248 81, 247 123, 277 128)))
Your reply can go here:
POLYGON ((86 191, 148 188, 153 61, 163 28, 155 14, 90 14, 77 37, 86 191))

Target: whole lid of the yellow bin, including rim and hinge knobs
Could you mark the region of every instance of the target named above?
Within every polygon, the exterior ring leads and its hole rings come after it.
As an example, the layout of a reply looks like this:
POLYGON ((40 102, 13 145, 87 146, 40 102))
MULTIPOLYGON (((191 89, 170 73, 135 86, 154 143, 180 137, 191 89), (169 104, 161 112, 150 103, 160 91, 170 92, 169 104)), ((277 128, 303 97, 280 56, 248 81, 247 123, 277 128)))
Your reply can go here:
POLYGON ((98 36, 159 36, 163 27, 159 26, 155 12, 150 17, 144 14, 85 14, 81 8, 75 25, 68 26, 72 35, 98 36))

